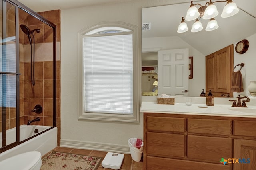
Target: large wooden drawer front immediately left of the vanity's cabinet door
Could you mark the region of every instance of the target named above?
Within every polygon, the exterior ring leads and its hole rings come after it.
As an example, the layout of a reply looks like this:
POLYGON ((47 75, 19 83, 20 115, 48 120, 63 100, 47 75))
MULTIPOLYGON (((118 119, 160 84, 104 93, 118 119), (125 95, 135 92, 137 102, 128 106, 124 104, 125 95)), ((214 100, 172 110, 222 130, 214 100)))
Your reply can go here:
POLYGON ((230 139, 188 135, 188 158, 216 161, 231 158, 230 139))

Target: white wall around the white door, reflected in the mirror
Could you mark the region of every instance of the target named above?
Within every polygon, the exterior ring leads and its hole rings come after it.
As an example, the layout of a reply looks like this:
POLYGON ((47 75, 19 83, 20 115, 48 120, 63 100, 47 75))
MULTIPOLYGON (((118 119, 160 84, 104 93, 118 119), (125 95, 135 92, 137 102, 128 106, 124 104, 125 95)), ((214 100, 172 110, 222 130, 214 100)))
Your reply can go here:
POLYGON ((200 96, 205 89, 205 56, 183 41, 180 37, 142 38, 143 49, 189 49, 189 56, 193 56, 193 79, 189 79, 189 96, 200 96))

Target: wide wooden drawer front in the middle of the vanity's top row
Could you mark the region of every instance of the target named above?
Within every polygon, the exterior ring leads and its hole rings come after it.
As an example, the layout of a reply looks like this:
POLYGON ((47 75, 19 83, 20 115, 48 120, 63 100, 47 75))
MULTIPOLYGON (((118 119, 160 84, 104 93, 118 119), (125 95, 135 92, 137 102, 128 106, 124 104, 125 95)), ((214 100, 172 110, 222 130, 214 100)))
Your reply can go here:
POLYGON ((214 119, 188 119, 188 133, 230 135, 230 121, 214 119))

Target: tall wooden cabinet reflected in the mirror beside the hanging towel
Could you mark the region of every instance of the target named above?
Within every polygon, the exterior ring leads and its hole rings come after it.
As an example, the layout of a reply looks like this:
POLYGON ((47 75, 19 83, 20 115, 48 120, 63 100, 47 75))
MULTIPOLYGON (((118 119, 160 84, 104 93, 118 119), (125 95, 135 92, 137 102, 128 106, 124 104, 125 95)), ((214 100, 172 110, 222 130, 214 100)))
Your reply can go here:
POLYGON ((229 45, 206 56, 206 94, 209 90, 214 96, 231 93, 231 76, 234 63, 234 46, 229 45))

